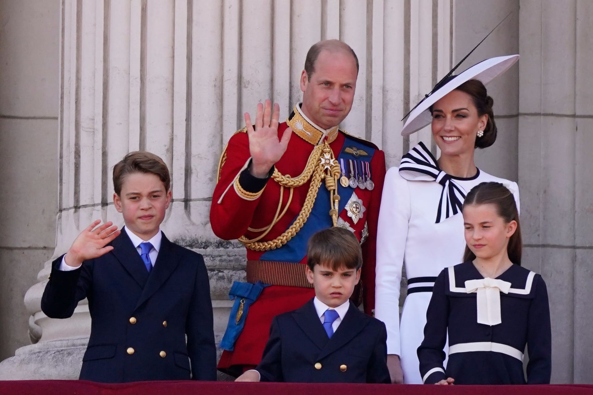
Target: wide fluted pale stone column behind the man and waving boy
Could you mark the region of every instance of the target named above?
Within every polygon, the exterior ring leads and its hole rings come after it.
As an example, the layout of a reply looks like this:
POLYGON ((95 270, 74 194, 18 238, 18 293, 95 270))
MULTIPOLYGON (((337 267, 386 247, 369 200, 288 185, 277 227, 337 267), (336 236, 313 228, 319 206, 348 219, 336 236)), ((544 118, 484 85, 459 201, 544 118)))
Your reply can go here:
MULTIPOLYGON (((286 117, 301 98, 308 48, 340 38, 361 65, 343 127, 377 143, 395 165, 410 144, 399 134, 401 118, 451 59, 450 0, 61 0, 60 7, 53 258, 94 219, 122 225, 112 203, 114 163, 130 150, 160 155, 173 179, 162 230, 205 256, 217 341, 229 287, 244 278, 244 248, 213 235, 209 207, 219 155, 243 126, 243 113, 271 98, 286 117), (431 52, 435 43, 438 53, 431 52)), ((413 137, 420 138, 430 136, 413 137)), ((88 305, 81 301, 65 320, 40 311, 50 262, 25 296, 33 344, 0 364, 0 380, 78 377, 88 305)))

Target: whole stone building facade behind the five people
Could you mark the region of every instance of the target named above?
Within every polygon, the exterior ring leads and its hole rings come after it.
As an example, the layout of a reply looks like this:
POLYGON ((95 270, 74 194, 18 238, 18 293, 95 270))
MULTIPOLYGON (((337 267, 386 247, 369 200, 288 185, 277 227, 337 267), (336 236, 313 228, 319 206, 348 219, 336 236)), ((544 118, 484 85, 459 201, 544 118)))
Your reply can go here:
POLYGON ((361 65, 343 129, 388 166, 420 140, 436 153, 429 129, 401 137, 401 118, 509 13, 460 68, 521 54, 488 86, 499 137, 476 162, 519 183, 524 265, 549 288, 553 382, 593 383, 588 0, 0 0, 0 380, 78 377, 88 306, 52 320, 40 298, 50 259, 84 227, 122 223, 110 172, 125 153, 171 169, 162 229, 205 256, 218 341, 244 250, 208 214, 243 113, 270 98, 287 116, 308 48, 339 38, 361 65))

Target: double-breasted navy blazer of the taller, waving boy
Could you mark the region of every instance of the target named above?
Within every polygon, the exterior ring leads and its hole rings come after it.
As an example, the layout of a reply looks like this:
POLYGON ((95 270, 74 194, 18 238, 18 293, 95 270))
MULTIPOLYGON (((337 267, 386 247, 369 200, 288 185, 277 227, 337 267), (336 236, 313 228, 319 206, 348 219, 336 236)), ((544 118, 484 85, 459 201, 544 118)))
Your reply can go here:
POLYGON ((202 255, 171 243, 149 273, 126 232, 113 250, 60 271, 62 256, 42 298, 51 318, 72 316, 88 299, 91 336, 81 380, 216 380, 216 348, 208 272, 202 255), (186 343, 187 335, 187 343, 186 343), (191 360, 191 368, 190 368, 191 360))

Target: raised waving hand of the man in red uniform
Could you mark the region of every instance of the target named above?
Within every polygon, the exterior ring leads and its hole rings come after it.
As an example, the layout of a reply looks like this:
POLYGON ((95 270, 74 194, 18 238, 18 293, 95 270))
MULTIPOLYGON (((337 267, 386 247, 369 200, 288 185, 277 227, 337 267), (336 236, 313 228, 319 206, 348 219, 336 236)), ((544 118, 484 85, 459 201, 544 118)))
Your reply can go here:
POLYGON ((249 113, 244 115, 251 154, 249 171, 253 176, 265 178, 272 166, 286 152, 292 129, 288 127, 282 134, 282 138, 278 139, 280 106, 275 103, 272 111, 272 102, 269 100, 266 100, 265 104, 257 104, 255 130, 249 113))

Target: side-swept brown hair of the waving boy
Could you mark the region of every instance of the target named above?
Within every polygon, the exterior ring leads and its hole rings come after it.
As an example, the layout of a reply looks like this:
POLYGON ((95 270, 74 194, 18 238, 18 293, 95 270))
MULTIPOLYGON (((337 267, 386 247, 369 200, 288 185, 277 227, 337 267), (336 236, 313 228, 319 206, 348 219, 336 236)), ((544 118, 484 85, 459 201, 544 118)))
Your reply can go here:
POLYGON ((171 186, 171 176, 165 162, 154 153, 146 151, 133 151, 123 157, 113 166, 113 189, 116 194, 122 192, 123 179, 128 174, 150 173, 158 176, 165 184, 165 192, 171 186))

